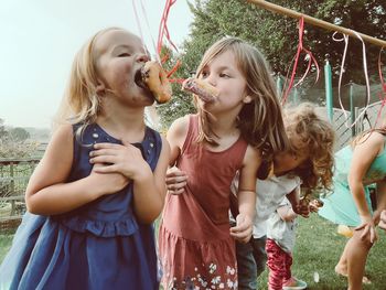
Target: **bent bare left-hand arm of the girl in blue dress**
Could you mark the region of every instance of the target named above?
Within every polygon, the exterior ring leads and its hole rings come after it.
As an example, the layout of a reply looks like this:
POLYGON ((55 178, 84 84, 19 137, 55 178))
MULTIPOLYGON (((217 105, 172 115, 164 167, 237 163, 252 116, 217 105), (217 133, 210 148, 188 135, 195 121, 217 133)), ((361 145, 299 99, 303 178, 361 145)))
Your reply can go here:
POLYGON ((65 125, 53 135, 29 181, 25 191, 29 212, 42 215, 69 212, 104 194, 114 193, 128 183, 120 174, 103 176, 96 173, 66 183, 73 164, 73 151, 72 126, 65 125))

